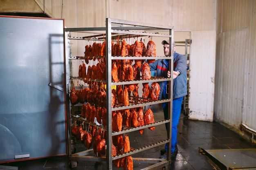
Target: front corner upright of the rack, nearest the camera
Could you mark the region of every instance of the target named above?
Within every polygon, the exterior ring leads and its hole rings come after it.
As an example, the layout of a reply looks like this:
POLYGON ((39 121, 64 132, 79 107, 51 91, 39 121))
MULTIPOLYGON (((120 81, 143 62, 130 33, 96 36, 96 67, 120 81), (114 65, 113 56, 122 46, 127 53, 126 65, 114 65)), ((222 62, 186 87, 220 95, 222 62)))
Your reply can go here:
POLYGON ((112 170, 112 106, 111 106, 111 19, 106 18, 106 90, 107 90, 107 165, 112 170))

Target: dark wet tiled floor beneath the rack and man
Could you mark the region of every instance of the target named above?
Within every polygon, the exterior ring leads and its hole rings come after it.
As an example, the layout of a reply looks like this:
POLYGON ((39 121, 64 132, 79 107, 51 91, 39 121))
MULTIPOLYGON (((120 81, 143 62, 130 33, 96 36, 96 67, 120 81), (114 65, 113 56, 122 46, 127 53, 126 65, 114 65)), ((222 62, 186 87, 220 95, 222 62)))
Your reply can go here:
MULTIPOLYGON (((152 106, 151 109, 156 121, 163 119, 161 105, 152 106)), ((128 136, 130 138, 130 146, 139 148, 166 139, 166 130, 164 125, 160 125, 154 131, 144 129, 143 135, 139 135, 139 132, 131 132, 128 136)), ((204 150, 256 148, 255 144, 243 140, 238 134, 217 122, 189 120, 184 115, 180 116, 177 139, 178 154, 176 160, 171 163, 171 170, 220 170, 209 157, 199 152, 199 147, 204 150)), ((83 149, 81 144, 76 144, 75 147, 78 151, 83 149)), ((159 158, 159 150, 162 148, 164 146, 155 147, 132 155, 132 157, 159 158)), ((0 166, 16 166, 18 170, 69 170, 69 162, 68 156, 61 156, 2 163, 0 166)), ((134 163, 134 170, 148 166, 150 166, 148 163, 136 162, 134 163)), ((106 169, 106 162, 95 161, 79 161, 76 168, 76 170, 106 169)), ((117 170, 118 168, 113 166, 113 169, 117 170)))

